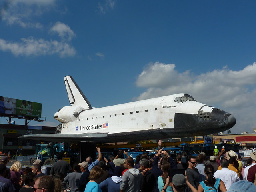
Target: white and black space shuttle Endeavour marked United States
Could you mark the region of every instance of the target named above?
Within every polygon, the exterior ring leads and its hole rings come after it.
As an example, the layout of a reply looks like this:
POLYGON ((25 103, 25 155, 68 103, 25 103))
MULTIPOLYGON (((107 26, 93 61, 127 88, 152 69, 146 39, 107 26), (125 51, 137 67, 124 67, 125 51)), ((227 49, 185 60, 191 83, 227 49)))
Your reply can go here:
POLYGON ((114 106, 93 108, 71 76, 64 82, 70 106, 54 114, 61 122, 55 134, 22 138, 55 142, 126 142, 204 136, 236 124, 230 113, 197 102, 189 94, 174 94, 114 106))

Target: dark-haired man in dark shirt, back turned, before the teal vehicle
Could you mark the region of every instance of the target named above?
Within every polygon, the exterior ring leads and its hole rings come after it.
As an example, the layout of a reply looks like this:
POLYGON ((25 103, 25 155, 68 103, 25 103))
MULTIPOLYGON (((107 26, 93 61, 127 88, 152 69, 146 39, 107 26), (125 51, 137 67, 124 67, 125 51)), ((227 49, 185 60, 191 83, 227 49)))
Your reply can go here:
POLYGON ((67 172, 73 172, 72 167, 70 164, 64 160, 63 158, 63 153, 57 152, 56 153, 57 161, 52 165, 52 169, 50 171, 50 175, 56 175, 57 173, 62 173, 64 176, 67 175, 67 172))

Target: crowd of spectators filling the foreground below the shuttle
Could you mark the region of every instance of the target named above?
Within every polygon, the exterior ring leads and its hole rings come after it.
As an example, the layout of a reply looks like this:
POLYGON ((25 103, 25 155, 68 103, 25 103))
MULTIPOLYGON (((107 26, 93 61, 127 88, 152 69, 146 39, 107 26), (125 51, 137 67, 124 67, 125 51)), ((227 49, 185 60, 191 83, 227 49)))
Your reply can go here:
POLYGON ((136 157, 138 162, 122 150, 107 160, 97 147, 95 161, 88 157, 71 167, 57 153, 50 175, 39 159, 22 170, 20 161, 6 167, 8 158, 3 156, 0 192, 256 192, 255 152, 244 164, 240 155, 224 147, 215 148, 210 157, 204 152, 174 157, 162 148, 161 140, 158 145, 152 158, 144 153, 136 157))

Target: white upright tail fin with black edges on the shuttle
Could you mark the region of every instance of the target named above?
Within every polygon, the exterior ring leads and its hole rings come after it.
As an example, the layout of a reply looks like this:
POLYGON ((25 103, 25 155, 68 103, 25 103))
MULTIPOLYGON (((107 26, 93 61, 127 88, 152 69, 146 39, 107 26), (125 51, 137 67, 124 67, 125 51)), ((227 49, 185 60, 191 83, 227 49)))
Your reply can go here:
POLYGON ((64 77, 68 99, 71 105, 81 106, 84 109, 92 109, 90 102, 84 96, 72 76, 64 77))

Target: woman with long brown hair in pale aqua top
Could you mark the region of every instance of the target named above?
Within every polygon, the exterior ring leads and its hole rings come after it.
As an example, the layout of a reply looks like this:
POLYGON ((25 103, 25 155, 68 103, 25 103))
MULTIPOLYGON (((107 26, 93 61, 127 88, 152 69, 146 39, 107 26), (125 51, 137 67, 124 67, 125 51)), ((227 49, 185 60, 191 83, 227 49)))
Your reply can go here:
POLYGON ((166 192, 173 192, 172 186, 170 186, 169 185, 170 183, 168 182, 168 177, 169 177, 168 170, 170 168, 171 168, 171 165, 169 162, 163 162, 161 164, 161 170, 163 171, 163 174, 159 176, 157 179, 157 185, 158 185, 159 191, 162 191, 162 188, 164 188, 164 186, 167 184, 168 187, 166 188, 166 192))

